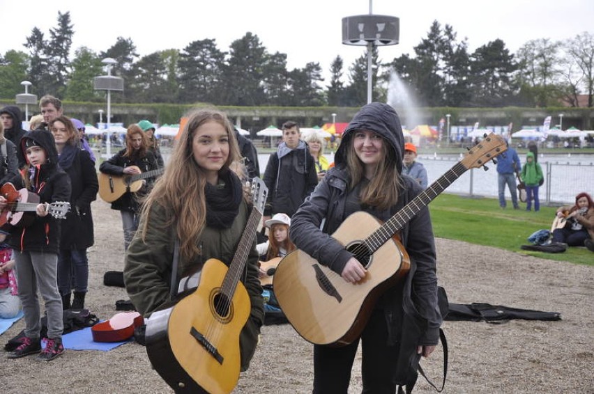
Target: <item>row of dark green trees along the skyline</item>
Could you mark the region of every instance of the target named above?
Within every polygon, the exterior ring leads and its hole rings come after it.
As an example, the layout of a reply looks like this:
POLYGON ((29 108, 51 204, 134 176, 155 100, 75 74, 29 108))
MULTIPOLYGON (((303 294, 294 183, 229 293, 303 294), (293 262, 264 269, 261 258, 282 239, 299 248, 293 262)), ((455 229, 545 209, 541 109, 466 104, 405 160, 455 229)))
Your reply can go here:
MULTIPOLYGON (((22 93, 20 82, 28 80, 30 93, 38 96, 101 102, 105 92, 93 89, 93 77, 105 74, 103 58, 114 58, 112 74, 125 83, 123 93, 112 95, 114 102, 250 107, 360 107, 367 102, 367 53, 346 69, 337 55, 330 81, 324 81, 317 62, 288 70, 287 54, 268 52, 250 32, 227 51, 206 38, 141 56, 132 38, 119 37, 104 51, 79 47, 70 58, 74 26, 69 12, 59 12, 49 36, 35 27, 26 37, 26 52, 0 54, 0 97, 22 93)), ((374 100, 386 102, 397 73, 422 107, 561 107, 561 102, 579 107, 579 95, 593 107, 592 33, 559 42, 530 40, 515 54, 499 39, 469 52, 467 40, 458 40, 452 26, 434 21, 413 51, 384 62, 373 49, 374 100)))

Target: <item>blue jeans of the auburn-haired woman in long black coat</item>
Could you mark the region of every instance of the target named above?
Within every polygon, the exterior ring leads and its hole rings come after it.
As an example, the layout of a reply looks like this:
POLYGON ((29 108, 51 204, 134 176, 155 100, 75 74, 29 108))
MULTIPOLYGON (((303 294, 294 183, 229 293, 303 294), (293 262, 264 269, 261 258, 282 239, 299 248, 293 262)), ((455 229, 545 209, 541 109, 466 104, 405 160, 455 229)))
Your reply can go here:
POLYGON ((89 285, 89 258, 86 249, 60 249, 58 253, 58 288, 61 295, 86 292, 89 285))

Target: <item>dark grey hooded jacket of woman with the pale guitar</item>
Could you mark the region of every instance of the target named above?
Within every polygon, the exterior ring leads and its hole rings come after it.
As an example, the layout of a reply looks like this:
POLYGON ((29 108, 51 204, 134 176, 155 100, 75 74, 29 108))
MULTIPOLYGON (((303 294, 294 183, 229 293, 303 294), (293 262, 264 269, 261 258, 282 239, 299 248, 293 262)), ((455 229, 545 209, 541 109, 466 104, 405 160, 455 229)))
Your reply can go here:
MULTIPOLYGON (((399 120, 391 107, 372 103, 363 107, 353 118, 343 134, 343 141, 335 155, 335 168, 330 168, 310 197, 291 218, 291 239, 296 246, 342 273, 344 265, 352 254, 344 249, 330 234, 342 224, 345 218, 349 174, 346 167, 345 150, 356 130, 371 130, 381 134, 390 145, 388 155, 394 155, 399 172, 402 171, 404 141, 399 120), (319 230, 323 224, 323 230, 319 230)), ((408 175, 402 175, 404 183, 397 204, 377 214, 381 221, 390 219, 406 203, 415 198, 422 188, 408 175)), ((422 208, 402 229, 402 245, 411 258, 411 268, 406 278, 388 289, 378 302, 383 308, 388 324, 389 341, 402 342, 400 347, 402 368, 407 369, 411 359, 416 358, 416 346, 436 345, 439 340, 441 314, 437 304, 436 251, 429 209, 422 208)), ((418 358, 417 361, 418 362, 418 358)), ((401 365, 399 365, 401 368, 401 365)), ((397 376, 402 384, 411 379, 397 376)), ((397 374, 398 375, 398 374, 397 374)), ((416 375, 415 375, 416 377, 416 375)))

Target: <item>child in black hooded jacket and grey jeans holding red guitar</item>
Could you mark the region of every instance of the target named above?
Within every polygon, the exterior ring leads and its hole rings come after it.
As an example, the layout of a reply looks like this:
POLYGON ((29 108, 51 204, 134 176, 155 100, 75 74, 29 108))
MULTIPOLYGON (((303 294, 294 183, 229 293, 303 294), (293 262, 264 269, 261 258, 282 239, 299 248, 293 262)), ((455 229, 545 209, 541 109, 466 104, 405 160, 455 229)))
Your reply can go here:
MULTIPOLYGON (((36 212, 27 227, 10 223, 8 244, 15 250, 17 285, 25 317, 25 337, 22 344, 8 355, 19 358, 39 354, 38 359, 50 361, 64 352, 62 345, 62 299, 58 291, 56 272, 60 221, 48 214, 45 203, 70 200, 70 178, 58 166, 58 153, 54 136, 38 130, 25 134, 19 145, 27 165, 24 177, 17 175, 10 180, 16 189, 26 188, 39 196, 36 212), (41 349, 40 306, 37 290, 45 302, 47 313, 47 342, 41 349)), ((0 209, 5 209, 6 196, 0 196, 0 209)))

